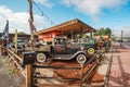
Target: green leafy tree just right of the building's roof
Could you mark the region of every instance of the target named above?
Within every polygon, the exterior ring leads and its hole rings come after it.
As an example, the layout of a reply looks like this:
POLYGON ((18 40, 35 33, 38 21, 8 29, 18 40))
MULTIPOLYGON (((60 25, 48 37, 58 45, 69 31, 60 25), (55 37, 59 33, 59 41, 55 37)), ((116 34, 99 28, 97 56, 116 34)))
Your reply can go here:
POLYGON ((112 30, 109 27, 106 27, 106 28, 100 28, 96 30, 96 33, 94 33, 95 36, 104 36, 104 35, 107 35, 110 37, 110 34, 112 34, 112 30))

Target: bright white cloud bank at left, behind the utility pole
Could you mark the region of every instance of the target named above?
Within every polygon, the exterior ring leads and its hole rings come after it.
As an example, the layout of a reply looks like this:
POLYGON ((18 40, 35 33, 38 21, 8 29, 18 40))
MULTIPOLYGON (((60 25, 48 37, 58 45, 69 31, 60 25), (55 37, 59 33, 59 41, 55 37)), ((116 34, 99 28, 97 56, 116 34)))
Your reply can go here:
MULTIPOLYGON (((10 33, 14 33, 15 28, 17 28, 18 32, 29 34, 28 17, 29 14, 26 12, 13 12, 11 9, 0 5, 0 30, 2 32, 4 29, 5 21, 9 20, 10 33)), ((39 15, 34 15, 34 25, 37 29, 41 29, 44 24, 44 18, 39 15)))

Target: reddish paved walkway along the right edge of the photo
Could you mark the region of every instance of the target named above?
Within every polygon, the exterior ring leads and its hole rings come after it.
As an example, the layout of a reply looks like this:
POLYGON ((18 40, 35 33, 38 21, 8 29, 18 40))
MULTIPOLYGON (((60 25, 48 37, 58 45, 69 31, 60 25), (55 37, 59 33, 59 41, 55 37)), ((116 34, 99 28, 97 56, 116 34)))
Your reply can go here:
POLYGON ((130 49, 114 45, 108 87, 130 87, 130 49))

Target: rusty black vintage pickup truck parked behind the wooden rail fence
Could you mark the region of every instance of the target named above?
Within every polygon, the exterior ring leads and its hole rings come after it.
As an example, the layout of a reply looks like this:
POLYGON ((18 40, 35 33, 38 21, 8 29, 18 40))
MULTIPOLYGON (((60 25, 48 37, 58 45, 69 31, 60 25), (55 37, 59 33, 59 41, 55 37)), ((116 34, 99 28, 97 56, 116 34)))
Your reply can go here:
MULTIPOLYGON (((40 50, 40 49, 39 49, 40 50)), ((80 45, 67 42, 65 37, 55 37, 52 45, 46 45, 41 51, 37 52, 37 62, 44 63, 47 60, 73 60, 84 63, 94 53, 94 49, 84 50, 80 45)))

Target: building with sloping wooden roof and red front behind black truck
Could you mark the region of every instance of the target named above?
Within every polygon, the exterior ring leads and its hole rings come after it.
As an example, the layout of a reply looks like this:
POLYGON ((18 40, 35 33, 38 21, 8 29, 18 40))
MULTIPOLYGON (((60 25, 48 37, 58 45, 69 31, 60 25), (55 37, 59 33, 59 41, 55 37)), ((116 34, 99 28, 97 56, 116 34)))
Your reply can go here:
POLYGON ((66 36, 68 38, 74 38, 77 34, 90 33, 92 37, 92 33, 95 29, 86 23, 81 22, 78 18, 39 30, 38 38, 39 40, 51 41, 55 36, 66 36))

